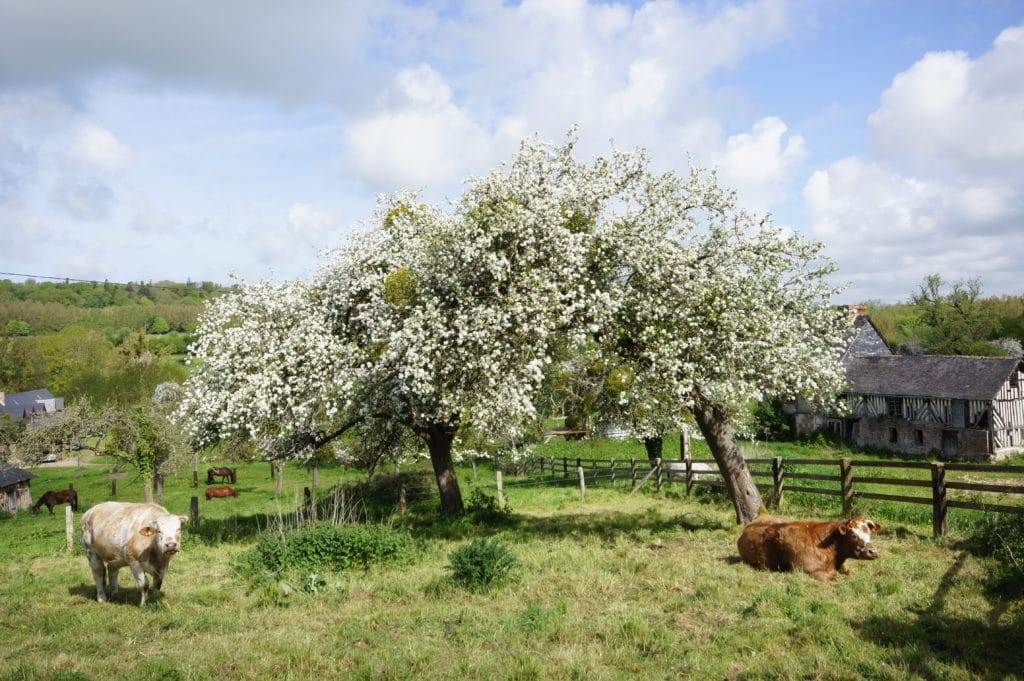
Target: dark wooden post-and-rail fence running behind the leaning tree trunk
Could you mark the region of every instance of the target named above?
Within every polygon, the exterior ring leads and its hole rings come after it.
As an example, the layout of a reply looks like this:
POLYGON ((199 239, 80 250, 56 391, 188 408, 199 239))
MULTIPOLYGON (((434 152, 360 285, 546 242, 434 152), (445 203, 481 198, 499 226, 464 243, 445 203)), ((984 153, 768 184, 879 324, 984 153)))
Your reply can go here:
MULTIPOLYGON (((1024 515, 1024 466, 962 464, 942 462, 854 461, 853 459, 748 459, 766 506, 777 509, 786 493, 839 497, 843 512, 849 514, 857 499, 873 499, 901 504, 925 504, 932 507, 932 530, 936 537, 946 534, 949 509, 970 509, 1024 515), (828 471, 831 472, 828 472, 828 471), (903 474, 893 476, 890 471, 903 474), (952 475, 949 475, 949 474, 952 475), (1010 478, 996 480, 992 478, 1010 478), (986 481, 987 478, 987 481, 986 481), (796 482, 796 484, 794 484, 796 482), (915 490, 922 494, 892 494, 892 487, 915 490), (969 498, 966 495, 971 495, 969 498), (1007 503, 1020 498, 1020 505, 1007 503)), ((568 459, 535 457, 523 462, 517 473, 529 479, 513 484, 594 483, 600 480, 630 480, 634 491, 647 481, 657 488, 682 482, 686 494, 694 485, 724 487, 714 459, 649 461, 630 459, 568 459)), ((899 490, 897 490, 899 491, 899 490)))

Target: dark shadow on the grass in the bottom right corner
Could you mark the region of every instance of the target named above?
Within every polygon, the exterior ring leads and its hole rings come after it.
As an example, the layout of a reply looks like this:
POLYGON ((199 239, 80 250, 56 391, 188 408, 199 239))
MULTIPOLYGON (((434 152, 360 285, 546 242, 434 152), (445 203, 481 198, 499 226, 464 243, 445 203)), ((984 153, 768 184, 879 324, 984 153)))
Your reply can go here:
POLYGON ((1024 616, 1008 622, 1012 603, 992 598, 987 616, 950 616, 945 603, 967 560, 962 552, 943 576, 927 608, 909 619, 867 618, 854 626, 886 650, 890 662, 924 679, 945 679, 947 666, 984 679, 1005 679, 1024 673, 1024 616))

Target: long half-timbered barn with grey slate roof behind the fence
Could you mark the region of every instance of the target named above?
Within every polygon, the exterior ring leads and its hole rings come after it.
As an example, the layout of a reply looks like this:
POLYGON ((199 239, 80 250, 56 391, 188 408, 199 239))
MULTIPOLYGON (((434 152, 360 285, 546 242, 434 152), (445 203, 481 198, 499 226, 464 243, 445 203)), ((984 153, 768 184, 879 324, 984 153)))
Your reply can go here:
POLYGON ((945 458, 1024 449, 1024 359, 855 355, 847 411, 827 426, 855 444, 945 458))

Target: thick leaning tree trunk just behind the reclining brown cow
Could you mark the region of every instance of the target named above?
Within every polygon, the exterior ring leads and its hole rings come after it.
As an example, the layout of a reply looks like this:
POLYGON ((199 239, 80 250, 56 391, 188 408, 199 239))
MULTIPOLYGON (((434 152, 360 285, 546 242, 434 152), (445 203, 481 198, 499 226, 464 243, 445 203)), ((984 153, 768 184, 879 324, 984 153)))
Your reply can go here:
POLYGON ((736 445, 736 433, 729 423, 729 416, 698 394, 694 399, 693 417, 722 471, 725 488, 736 509, 736 522, 745 525, 758 516, 761 493, 736 445))

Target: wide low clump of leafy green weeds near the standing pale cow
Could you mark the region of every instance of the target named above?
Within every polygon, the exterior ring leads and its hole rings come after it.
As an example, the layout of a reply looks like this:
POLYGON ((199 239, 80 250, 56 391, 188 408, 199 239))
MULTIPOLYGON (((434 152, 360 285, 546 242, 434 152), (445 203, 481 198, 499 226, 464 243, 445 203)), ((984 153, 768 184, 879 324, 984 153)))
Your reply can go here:
POLYGON ((343 570, 407 562, 416 554, 408 531, 388 525, 327 522, 299 529, 264 533, 243 559, 251 574, 288 570, 343 570))

